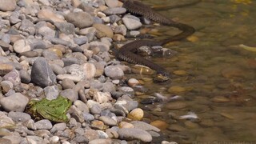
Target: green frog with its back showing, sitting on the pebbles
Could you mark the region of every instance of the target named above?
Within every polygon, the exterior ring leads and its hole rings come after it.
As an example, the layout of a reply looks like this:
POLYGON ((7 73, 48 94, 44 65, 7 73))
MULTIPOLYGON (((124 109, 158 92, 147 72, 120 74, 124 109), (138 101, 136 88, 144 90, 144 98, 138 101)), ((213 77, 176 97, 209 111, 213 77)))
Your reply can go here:
POLYGON ((31 100, 26 106, 26 113, 30 114, 36 121, 43 118, 52 122, 67 122, 66 111, 70 109, 72 102, 58 96, 54 100, 42 98, 42 100, 31 100))

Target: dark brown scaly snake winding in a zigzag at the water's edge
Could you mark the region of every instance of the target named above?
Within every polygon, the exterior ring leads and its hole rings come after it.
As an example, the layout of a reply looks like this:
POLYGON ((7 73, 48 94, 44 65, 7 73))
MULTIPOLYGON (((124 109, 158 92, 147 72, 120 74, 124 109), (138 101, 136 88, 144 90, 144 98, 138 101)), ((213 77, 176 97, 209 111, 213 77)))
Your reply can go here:
POLYGON ((150 6, 144 5, 142 2, 138 2, 135 0, 119 0, 119 1, 123 2, 123 7, 126 8, 126 10, 129 11, 131 14, 142 15, 143 17, 148 18, 154 22, 158 22, 166 26, 174 26, 179 30, 182 30, 181 33, 174 35, 171 38, 158 41, 158 42, 146 40, 146 39, 135 40, 133 42, 127 43, 126 45, 122 46, 118 50, 118 53, 116 54, 117 58, 123 61, 148 66, 151 69, 156 70, 157 75, 154 78, 154 80, 157 82, 164 82, 169 80, 170 73, 166 71, 162 66, 159 66, 158 64, 155 64, 154 62, 151 62, 145 58, 142 58, 141 56, 134 53, 141 46, 163 46, 168 42, 174 42, 174 41, 178 41, 183 38, 186 38, 191 34, 194 34, 194 31, 195 31, 194 28, 192 26, 188 26, 181 22, 174 22, 173 20, 166 18, 162 14, 155 12, 150 8, 150 6))

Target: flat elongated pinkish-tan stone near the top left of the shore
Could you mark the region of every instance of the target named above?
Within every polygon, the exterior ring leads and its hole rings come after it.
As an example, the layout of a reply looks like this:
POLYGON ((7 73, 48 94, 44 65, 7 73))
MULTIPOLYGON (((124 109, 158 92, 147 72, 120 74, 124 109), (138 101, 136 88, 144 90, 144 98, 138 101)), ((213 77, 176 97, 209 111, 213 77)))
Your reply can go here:
POLYGON ((38 18, 50 19, 51 21, 54 21, 54 22, 65 22, 64 18, 62 18, 61 15, 55 14, 50 9, 43 9, 43 10, 38 11, 38 18))

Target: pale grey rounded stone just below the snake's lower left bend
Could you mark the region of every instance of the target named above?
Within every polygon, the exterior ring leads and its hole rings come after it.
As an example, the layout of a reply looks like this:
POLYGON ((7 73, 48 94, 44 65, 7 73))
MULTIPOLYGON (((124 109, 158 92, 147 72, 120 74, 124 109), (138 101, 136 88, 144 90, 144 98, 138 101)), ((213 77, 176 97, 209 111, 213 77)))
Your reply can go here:
POLYGON ((123 78, 124 73, 119 66, 106 66, 104 72, 107 77, 120 79, 123 78))

